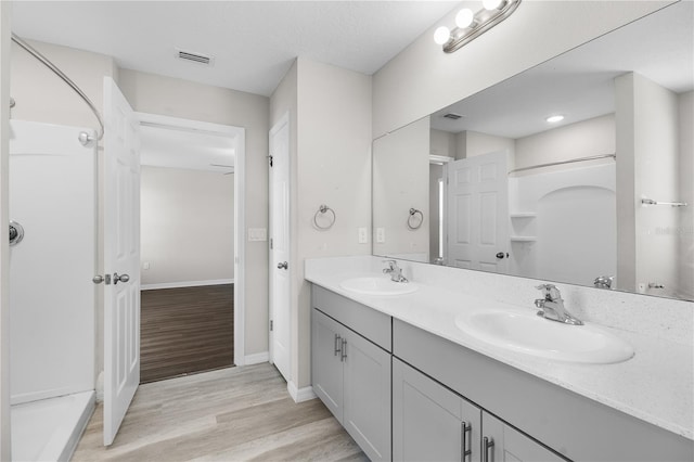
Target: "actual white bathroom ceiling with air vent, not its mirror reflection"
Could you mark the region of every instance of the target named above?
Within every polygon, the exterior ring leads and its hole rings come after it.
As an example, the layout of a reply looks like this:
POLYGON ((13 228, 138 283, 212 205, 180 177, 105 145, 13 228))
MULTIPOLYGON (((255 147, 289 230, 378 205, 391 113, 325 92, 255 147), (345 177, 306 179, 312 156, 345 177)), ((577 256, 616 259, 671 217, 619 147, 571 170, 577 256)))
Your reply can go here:
POLYGON ((270 95, 297 56, 372 75, 460 1, 15 1, 12 30, 270 95), (211 55, 207 67, 176 50, 211 55))

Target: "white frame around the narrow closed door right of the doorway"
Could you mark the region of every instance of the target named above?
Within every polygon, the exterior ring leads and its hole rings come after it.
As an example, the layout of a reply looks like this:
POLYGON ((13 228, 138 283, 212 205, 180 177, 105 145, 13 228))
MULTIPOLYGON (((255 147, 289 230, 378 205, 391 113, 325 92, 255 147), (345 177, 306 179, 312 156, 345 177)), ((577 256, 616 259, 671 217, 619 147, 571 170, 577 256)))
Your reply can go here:
MULTIPOLYGON (((287 126, 291 129, 290 126, 290 112, 285 112, 284 114, 282 114, 282 116, 278 119, 278 121, 272 125, 272 127, 270 128, 270 131, 268 131, 268 149, 270 147, 270 143, 272 140, 272 136, 274 133, 277 133, 282 127, 287 126)), ((290 197, 292 196, 292 133, 290 132, 290 145, 287 146, 287 165, 288 165, 288 172, 290 172, 290 181, 288 181, 288 194, 290 197)), ((268 153, 269 156, 272 156, 272 153, 268 153)), ((274 260, 273 260, 273 254, 272 254, 272 246, 271 246, 271 236, 273 235, 272 233, 272 227, 273 227, 273 222, 272 222, 272 169, 270 167, 270 162, 269 162, 270 157, 268 157, 268 236, 269 236, 269 242, 268 242, 268 268, 269 271, 272 271, 272 269, 274 268, 274 260)), ((292 242, 292 201, 290 201, 288 204, 290 210, 288 210, 288 215, 290 215, 290 222, 287 223, 287 233, 290 234, 290 240, 288 240, 288 268, 287 268, 287 278, 290 280, 290 299, 287 300, 288 303, 288 308, 290 308, 290 321, 292 319, 292 275, 293 275, 293 261, 292 261, 292 246, 291 246, 291 242, 292 242)), ((273 284, 273 277, 270 273, 268 277, 268 315, 269 315, 269 321, 268 324, 270 323, 270 321, 272 321, 274 319, 274 284, 273 284)), ((292 326, 287 326, 290 330, 290 346, 292 346, 293 342, 292 342, 292 326)), ((274 363, 274 342, 273 342, 273 336, 274 336, 274 331, 270 329, 270 325, 268 325, 268 357, 269 357, 269 362, 270 363, 274 363)), ((291 383, 293 383, 293 355, 292 351, 290 351, 290 377, 287 378, 287 387, 290 386, 291 383)))

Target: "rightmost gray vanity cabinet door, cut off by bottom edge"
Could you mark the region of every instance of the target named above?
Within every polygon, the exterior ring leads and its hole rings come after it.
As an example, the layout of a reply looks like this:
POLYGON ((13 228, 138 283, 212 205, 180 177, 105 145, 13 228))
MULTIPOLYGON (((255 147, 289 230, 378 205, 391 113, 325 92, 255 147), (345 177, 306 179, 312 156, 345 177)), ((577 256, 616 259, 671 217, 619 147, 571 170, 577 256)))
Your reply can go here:
POLYGON ((499 419, 483 412, 484 462, 562 462, 564 458, 499 419), (485 439, 486 438, 486 439, 485 439), (485 448, 485 444, 489 446, 485 448))

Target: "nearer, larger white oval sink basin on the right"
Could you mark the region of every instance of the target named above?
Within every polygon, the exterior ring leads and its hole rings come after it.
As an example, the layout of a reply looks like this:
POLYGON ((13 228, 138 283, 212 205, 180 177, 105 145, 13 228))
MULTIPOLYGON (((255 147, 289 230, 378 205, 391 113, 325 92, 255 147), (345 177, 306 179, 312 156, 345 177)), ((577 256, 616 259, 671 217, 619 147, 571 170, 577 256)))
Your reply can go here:
POLYGON ((561 361, 607 364, 633 356, 631 345, 601 328, 550 321, 532 311, 477 311, 459 316, 455 325, 483 342, 561 361))

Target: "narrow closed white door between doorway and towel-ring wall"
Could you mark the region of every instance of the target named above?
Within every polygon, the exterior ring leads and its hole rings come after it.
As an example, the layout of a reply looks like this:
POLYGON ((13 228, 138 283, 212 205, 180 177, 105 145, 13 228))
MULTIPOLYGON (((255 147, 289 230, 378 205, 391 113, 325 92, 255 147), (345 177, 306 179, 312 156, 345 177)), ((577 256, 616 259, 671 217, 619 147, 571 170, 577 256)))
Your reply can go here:
POLYGON ((290 120, 270 130, 270 361, 291 377, 290 120))

